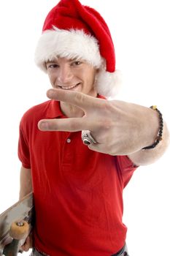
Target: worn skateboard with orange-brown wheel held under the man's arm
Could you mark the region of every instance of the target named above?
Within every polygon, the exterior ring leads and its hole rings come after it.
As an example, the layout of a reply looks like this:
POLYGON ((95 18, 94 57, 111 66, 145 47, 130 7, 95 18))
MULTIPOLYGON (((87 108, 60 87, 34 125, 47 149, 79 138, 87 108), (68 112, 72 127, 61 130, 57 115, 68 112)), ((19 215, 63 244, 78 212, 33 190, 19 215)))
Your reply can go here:
POLYGON ((30 233, 33 221, 34 200, 31 192, 0 214, 0 255, 18 255, 20 244, 30 233), (9 244, 7 241, 10 241, 9 244))

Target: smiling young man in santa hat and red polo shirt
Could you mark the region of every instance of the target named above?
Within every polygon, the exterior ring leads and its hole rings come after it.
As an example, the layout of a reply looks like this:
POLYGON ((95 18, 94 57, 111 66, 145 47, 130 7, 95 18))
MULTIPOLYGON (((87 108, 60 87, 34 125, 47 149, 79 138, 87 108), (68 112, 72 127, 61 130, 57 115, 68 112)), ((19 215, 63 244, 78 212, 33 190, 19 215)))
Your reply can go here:
POLYGON ((36 64, 53 89, 20 122, 20 197, 33 190, 36 210, 32 255, 128 255, 123 188, 166 150, 161 113, 107 100, 119 75, 112 37, 78 0, 47 15, 36 64))

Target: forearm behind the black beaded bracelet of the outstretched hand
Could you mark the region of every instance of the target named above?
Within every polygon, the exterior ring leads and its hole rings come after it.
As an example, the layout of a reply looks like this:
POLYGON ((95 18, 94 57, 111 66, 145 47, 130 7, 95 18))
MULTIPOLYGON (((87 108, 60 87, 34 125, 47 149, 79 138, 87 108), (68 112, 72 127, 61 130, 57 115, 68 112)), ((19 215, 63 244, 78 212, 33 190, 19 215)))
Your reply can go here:
POLYGON ((163 124, 163 140, 155 148, 145 149, 129 154, 128 157, 135 165, 150 165, 158 160, 169 146, 170 136, 166 123, 163 124))

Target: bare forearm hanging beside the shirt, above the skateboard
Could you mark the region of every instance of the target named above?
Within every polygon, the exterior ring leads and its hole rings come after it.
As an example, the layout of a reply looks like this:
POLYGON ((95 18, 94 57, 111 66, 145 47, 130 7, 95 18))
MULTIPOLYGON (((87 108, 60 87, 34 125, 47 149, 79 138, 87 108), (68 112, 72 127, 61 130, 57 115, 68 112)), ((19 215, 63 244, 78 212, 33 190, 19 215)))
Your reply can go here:
POLYGON ((20 199, 32 191, 31 169, 20 168, 20 199))

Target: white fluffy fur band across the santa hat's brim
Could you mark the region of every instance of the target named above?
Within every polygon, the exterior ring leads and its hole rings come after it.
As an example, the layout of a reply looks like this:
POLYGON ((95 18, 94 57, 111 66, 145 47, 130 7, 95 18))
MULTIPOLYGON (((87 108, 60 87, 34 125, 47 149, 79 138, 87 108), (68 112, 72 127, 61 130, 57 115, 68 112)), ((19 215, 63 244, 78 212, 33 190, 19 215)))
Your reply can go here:
POLYGON ((82 30, 63 30, 54 27, 40 37, 35 62, 46 72, 45 62, 52 61, 56 56, 84 59, 97 68, 101 66, 102 61, 95 37, 85 34, 82 30))

